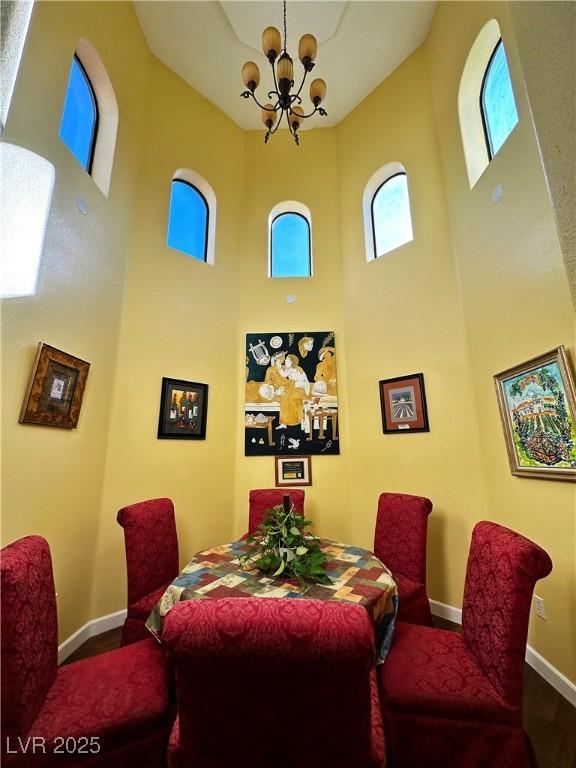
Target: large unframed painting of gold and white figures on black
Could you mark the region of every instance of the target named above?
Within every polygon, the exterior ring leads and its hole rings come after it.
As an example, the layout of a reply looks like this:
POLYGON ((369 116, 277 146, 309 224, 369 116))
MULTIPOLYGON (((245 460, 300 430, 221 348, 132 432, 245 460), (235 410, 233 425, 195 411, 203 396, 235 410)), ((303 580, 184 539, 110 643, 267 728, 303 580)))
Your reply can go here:
POLYGON ((246 335, 246 456, 340 453, 332 331, 246 335))

